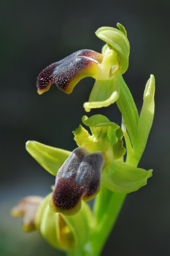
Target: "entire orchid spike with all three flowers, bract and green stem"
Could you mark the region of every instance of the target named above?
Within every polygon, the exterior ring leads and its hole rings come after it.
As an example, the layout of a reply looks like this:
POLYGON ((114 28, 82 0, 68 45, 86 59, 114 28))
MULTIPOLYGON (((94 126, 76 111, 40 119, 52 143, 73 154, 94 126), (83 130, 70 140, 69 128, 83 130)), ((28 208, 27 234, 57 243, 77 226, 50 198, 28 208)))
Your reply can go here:
POLYGON ((83 116, 82 123, 91 134, 80 124, 73 131, 78 148, 72 152, 36 141, 26 144, 32 157, 56 176, 55 186, 45 198, 24 198, 12 215, 24 215, 24 230, 39 230, 51 245, 67 255, 99 255, 125 195, 145 186, 152 175, 152 170, 137 166, 154 118, 155 78, 151 75, 147 82, 139 116, 122 77, 128 69, 130 45, 125 28, 120 23, 117 27, 96 31, 106 42, 102 53, 77 51, 45 68, 37 78, 39 94, 48 91, 53 83, 71 93, 82 78, 91 76, 96 82, 84 109, 89 112, 116 102, 122 114, 121 127, 103 115, 83 116), (84 201, 94 197, 91 210, 84 201))

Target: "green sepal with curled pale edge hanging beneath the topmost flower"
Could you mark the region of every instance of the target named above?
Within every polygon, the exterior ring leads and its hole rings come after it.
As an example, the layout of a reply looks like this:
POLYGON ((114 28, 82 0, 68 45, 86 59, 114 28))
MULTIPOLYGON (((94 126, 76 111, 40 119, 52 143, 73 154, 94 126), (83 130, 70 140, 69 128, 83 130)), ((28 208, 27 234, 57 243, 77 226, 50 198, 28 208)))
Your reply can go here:
POLYGON ((120 95, 120 85, 117 79, 96 80, 90 93, 89 102, 85 102, 83 107, 89 112, 91 108, 107 107, 114 103, 120 95))

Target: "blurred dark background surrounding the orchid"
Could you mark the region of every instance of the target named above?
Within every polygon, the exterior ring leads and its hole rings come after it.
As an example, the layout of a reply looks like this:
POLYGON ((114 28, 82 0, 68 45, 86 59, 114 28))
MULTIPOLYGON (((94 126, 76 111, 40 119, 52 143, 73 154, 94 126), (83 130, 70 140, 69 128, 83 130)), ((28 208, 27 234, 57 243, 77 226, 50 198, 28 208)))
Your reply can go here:
POLYGON ((116 104, 86 113, 93 78, 67 95, 55 85, 38 95, 36 78, 50 63, 81 50, 101 51, 101 26, 122 23, 131 46, 128 84, 139 112, 150 74, 156 78, 156 114, 139 167, 154 169, 148 185, 127 196, 103 251, 114 256, 170 255, 169 25, 170 1, 1 0, 1 218, 0 255, 64 255, 36 232, 25 234, 10 209, 27 195, 46 196, 54 177, 25 150, 27 140, 67 150, 83 115, 106 115, 121 125, 116 104))

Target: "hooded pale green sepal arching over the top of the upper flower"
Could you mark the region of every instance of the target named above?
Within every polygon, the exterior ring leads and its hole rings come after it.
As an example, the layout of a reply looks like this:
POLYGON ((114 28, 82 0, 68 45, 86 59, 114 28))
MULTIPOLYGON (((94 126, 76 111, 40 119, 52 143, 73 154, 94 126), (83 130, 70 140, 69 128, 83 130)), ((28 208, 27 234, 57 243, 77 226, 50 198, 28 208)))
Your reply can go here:
POLYGON ((112 75, 124 74, 129 65, 130 45, 125 35, 125 28, 118 23, 121 30, 112 27, 101 27, 96 35, 105 41, 108 47, 117 53, 117 65, 112 68, 112 75))

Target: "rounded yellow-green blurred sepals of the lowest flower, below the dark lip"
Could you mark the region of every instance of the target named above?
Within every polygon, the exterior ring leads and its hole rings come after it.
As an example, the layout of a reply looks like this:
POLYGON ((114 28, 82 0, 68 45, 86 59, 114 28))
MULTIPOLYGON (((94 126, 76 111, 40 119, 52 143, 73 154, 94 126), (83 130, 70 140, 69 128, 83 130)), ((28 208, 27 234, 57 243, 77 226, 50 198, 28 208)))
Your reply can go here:
POLYGON ((44 198, 36 213, 36 229, 51 245, 68 251, 84 245, 95 226, 90 207, 82 201, 81 210, 74 216, 66 217, 49 209, 48 201, 52 193, 44 198))

